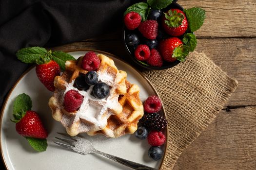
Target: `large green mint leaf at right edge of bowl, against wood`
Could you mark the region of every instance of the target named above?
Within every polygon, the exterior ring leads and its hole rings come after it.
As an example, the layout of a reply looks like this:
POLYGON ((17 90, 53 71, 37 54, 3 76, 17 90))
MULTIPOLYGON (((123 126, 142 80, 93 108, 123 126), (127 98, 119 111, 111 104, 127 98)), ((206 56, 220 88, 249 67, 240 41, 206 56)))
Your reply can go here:
POLYGON ((197 31, 203 25, 205 19, 205 10, 202 8, 194 7, 184 9, 184 13, 188 20, 188 31, 190 33, 197 31))

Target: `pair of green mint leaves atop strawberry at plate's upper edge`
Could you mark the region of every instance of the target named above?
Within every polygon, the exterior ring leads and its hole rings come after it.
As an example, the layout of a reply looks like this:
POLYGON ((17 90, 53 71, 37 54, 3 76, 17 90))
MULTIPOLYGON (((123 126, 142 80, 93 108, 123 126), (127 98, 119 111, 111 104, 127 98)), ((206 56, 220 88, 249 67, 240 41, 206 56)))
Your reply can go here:
POLYGON ((65 70, 65 62, 67 60, 75 60, 73 56, 62 51, 47 51, 42 47, 27 47, 17 51, 16 56, 23 63, 45 64, 51 60, 59 64, 61 71, 65 70))

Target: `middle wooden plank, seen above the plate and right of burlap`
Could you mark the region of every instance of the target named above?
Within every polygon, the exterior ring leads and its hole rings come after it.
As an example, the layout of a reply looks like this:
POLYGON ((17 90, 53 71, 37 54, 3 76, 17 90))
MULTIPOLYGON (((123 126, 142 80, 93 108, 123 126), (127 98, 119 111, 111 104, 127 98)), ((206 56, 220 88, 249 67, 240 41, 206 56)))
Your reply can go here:
MULTIPOLYGON (((90 48, 118 55, 131 62, 120 40, 84 41, 54 50, 90 48)), ((256 105, 256 38, 198 39, 196 51, 203 51, 217 66, 238 81, 238 87, 226 105, 256 105)))

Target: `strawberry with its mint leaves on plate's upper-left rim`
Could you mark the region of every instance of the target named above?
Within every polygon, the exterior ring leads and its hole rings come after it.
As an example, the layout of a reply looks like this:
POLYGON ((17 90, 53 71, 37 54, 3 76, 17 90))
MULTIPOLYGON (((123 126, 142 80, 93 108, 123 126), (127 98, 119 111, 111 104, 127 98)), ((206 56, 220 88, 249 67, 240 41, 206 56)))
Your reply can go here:
POLYGON ((24 63, 36 63, 36 73, 40 82, 50 91, 54 91, 54 78, 65 69, 67 60, 75 60, 68 53, 62 51, 47 51, 41 47, 28 47, 16 53, 19 60, 24 63))

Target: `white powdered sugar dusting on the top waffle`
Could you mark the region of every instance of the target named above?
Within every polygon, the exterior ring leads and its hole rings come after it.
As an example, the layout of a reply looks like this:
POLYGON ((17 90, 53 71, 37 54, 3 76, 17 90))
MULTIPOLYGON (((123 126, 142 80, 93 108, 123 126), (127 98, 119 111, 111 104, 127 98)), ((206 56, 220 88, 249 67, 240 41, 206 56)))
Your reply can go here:
POLYGON ((93 86, 90 86, 87 91, 78 90, 74 87, 75 80, 67 84, 65 90, 60 90, 56 94, 56 97, 59 98, 59 106, 61 106, 61 108, 64 107, 64 96, 69 90, 77 90, 84 97, 79 110, 74 115, 73 121, 70 116, 63 115, 61 123, 65 127, 71 126, 72 123, 75 123, 80 119, 86 121, 82 121, 83 123, 80 124, 79 132, 98 131, 107 125, 107 119, 113 114, 110 110, 120 105, 118 102, 118 95, 115 92, 117 87, 114 82, 115 77, 108 73, 103 74, 99 72, 98 79, 111 87, 110 95, 105 99, 97 99, 91 95, 93 86))

